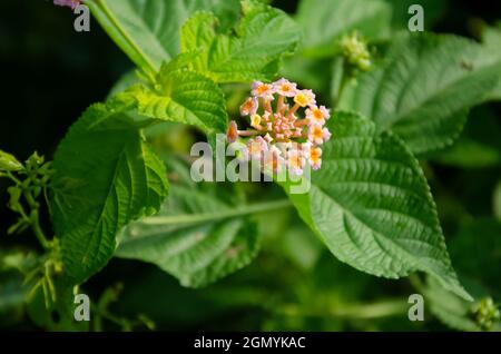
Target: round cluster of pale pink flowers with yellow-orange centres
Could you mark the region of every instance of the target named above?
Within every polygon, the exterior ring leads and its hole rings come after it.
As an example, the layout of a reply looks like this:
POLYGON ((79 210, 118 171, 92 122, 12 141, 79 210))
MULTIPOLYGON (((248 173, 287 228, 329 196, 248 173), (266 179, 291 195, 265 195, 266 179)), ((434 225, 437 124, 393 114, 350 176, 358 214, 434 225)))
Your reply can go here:
POLYGON ((303 175, 307 165, 321 168, 321 146, 331 138, 325 127, 331 115, 325 106, 317 106, 312 90, 301 90, 284 78, 272 83, 255 81, 240 115, 248 117, 250 128, 238 130, 233 120, 227 140, 244 139, 244 158, 259 160, 263 169, 273 173, 286 168, 303 175))

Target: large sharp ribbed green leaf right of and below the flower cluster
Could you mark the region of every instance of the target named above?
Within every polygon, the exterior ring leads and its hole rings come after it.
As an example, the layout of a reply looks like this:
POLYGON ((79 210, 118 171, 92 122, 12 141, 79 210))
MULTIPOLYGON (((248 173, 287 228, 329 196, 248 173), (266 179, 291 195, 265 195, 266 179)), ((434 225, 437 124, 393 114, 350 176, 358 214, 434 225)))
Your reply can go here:
POLYGON ((285 189, 301 217, 351 266, 389 278, 422 271, 470 298, 452 268, 430 187, 418 160, 391 132, 337 112, 306 194, 285 189))

